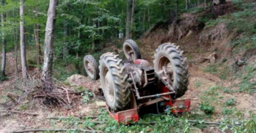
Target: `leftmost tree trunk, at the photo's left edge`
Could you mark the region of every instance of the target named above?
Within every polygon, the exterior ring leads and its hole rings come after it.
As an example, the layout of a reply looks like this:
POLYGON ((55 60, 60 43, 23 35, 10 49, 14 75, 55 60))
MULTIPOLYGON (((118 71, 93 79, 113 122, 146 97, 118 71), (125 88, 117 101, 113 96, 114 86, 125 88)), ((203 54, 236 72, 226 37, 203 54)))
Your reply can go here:
MULTIPOLYGON (((4 0, 1 1, 2 6, 4 4, 4 0)), ((5 66, 6 66, 6 41, 5 41, 5 33, 3 32, 5 22, 5 15, 1 13, 1 25, 2 25, 2 67, 1 67, 1 76, 5 76, 5 66)))

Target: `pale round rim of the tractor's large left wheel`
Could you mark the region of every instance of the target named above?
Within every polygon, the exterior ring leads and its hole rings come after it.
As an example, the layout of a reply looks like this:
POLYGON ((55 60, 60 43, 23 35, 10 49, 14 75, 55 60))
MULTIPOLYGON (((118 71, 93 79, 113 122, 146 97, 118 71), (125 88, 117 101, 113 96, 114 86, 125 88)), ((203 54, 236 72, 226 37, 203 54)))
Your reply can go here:
POLYGON ((114 84, 111 72, 108 71, 107 67, 103 68, 103 88, 106 95, 106 98, 109 101, 114 100, 114 84))

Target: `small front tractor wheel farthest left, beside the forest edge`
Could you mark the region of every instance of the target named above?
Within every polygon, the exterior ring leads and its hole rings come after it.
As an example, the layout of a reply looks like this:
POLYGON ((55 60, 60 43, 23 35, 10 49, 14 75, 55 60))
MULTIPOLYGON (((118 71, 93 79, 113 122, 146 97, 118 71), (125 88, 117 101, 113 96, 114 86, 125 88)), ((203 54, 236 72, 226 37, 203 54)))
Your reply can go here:
POLYGON ((86 73, 91 80, 99 79, 98 63, 92 55, 84 56, 84 68, 86 69, 86 73))

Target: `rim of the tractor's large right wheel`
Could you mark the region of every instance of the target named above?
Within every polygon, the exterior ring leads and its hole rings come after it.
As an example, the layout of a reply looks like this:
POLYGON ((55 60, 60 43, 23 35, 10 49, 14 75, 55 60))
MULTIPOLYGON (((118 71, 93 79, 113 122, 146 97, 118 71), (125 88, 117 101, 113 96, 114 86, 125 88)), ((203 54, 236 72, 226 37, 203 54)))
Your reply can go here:
POLYGON ((158 63, 158 72, 162 72, 165 69, 165 75, 168 77, 168 81, 172 84, 174 80, 172 62, 169 58, 162 56, 158 63))

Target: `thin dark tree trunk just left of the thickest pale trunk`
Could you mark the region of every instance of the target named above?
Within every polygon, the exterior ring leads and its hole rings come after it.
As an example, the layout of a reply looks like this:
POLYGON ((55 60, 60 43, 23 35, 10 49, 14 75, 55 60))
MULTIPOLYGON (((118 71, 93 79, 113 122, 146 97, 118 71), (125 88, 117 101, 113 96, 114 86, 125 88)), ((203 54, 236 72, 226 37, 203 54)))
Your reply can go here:
POLYGON ((37 47, 37 65, 41 65, 41 45, 40 45, 40 25, 34 25, 34 40, 36 40, 36 47, 37 47))

